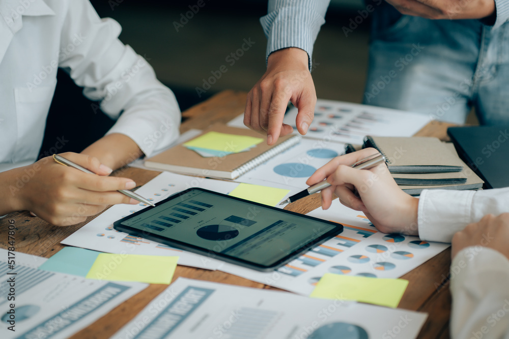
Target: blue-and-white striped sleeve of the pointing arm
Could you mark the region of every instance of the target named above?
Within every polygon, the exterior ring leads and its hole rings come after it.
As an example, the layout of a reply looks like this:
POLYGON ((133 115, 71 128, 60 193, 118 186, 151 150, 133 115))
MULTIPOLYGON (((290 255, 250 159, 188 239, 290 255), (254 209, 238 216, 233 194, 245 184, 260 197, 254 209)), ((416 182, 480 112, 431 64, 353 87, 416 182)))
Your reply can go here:
POLYGON ((267 36, 267 55, 281 48, 298 47, 309 56, 312 67, 313 45, 325 23, 330 0, 270 0, 268 14, 260 19, 267 36))

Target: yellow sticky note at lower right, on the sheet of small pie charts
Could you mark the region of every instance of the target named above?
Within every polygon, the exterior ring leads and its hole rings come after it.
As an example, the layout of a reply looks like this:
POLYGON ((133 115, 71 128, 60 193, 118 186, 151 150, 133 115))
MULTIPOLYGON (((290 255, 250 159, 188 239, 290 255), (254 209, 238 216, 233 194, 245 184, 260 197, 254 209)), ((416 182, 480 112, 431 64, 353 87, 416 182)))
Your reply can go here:
POLYGON ((404 279, 367 278, 325 273, 310 295, 312 298, 356 300, 397 307, 408 285, 404 279))

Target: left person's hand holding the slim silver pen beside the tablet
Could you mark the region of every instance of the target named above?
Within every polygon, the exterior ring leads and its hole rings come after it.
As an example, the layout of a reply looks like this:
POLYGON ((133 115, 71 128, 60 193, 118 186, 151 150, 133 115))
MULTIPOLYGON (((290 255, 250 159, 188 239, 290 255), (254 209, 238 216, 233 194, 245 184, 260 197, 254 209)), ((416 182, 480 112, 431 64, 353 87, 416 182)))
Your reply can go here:
POLYGON ((111 169, 97 158, 71 152, 62 156, 99 175, 57 164, 52 157, 17 168, 9 186, 13 210, 30 210, 50 224, 66 226, 83 222, 108 205, 138 203, 116 192, 134 188, 133 180, 109 177, 111 169))

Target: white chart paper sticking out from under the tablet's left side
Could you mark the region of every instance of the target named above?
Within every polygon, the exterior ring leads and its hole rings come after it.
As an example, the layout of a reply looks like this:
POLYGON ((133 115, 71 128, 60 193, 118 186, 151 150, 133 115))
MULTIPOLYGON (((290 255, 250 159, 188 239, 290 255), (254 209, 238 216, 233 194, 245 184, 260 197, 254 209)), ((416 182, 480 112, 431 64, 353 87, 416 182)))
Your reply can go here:
MULTIPOLYGON (((238 185, 238 182, 233 181, 206 179, 171 172, 162 172, 154 179, 147 182, 143 187, 136 190, 136 193, 149 200, 158 202, 175 193, 193 187, 229 194, 238 185)), ((274 187, 278 186, 274 185, 274 187)), ((291 191, 281 200, 295 193, 297 193, 297 190, 291 191)), ((120 204, 112 206, 90 223, 65 238, 62 243, 107 253, 179 256, 179 265, 211 270, 216 269, 222 264, 222 261, 212 259, 208 256, 182 251, 156 241, 132 236, 113 228, 113 223, 115 221, 145 207, 146 205, 143 203, 137 205, 120 204)))

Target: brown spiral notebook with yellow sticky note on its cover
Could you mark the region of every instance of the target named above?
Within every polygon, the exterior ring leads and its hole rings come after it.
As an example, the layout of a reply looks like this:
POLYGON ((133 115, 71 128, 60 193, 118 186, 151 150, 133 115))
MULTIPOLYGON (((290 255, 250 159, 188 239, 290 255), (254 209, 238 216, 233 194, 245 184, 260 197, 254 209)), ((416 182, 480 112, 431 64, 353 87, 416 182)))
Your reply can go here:
MULTIPOLYGON (((211 126, 204 130, 199 136, 208 132, 260 137, 260 134, 257 132, 222 124, 211 126)), ((282 151, 295 146, 300 142, 300 139, 301 137, 298 135, 288 135, 280 137, 277 143, 272 146, 268 146, 264 141, 254 146, 249 151, 213 158, 204 158, 195 151, 179 144, 165 150, 157 156, 147 159, 145 161, 145 166, 181 174, 235 179, 258 165, 263 164, 282 151)))

